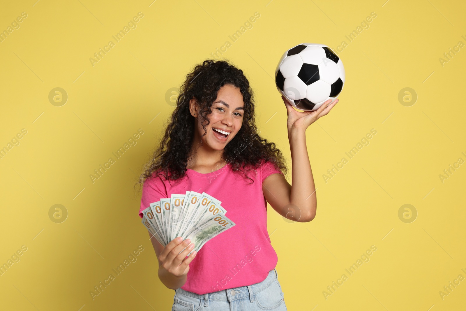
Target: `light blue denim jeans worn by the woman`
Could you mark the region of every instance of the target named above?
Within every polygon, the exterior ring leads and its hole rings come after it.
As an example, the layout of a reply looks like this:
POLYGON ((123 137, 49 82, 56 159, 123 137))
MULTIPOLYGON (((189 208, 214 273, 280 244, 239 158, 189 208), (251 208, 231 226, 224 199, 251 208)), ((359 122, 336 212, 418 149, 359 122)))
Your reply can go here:
POLYGON ((249 286, 220 290, 204 295, 178 288, 171 311, 286 311, 277 270, 270 270, 266 279, 249 286))

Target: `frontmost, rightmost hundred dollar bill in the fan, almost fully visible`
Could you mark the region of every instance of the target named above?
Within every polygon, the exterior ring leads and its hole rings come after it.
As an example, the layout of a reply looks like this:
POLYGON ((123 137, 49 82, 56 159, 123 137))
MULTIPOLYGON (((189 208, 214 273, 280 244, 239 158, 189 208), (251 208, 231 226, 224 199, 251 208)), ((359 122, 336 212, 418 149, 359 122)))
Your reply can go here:
MULTIPOLYGON (((235 225, 236 224, 223 213, 218 213, 204 221, 198 227, 192 228, 183 238, 189 238, 191 242, 194 243, 194 249, 192 249, 192 251, 199 251, 207 241, 235 225)), ((189 254, 191 254, 192 251, 189 254)))

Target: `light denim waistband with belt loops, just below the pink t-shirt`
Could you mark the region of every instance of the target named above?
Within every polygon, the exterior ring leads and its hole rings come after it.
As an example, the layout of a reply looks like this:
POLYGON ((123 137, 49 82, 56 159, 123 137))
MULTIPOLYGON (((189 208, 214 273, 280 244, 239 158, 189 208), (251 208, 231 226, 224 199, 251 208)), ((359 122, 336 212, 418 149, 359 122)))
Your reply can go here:
POLYGON ((277 270, 270 270, 268 272, 267 277, 265 280, 259 283, 255 283, 248 286, 241 286, 241 287, 234 287, 229 288, 226 290, 215 291, 213 293, 207 293, 203 295, 199 295, 193 293, 191 291, 183 290, 182 288, 178 288, 176 291, 190 297, 203 299, 205 304, 208 304, 209 300, 228 300, 234 301, 237 299, 243 299, 249 297, 251 302, 254 302, 254 294, 259 293, 262 290, 265 290, 272 282, 277 279, 277 270))

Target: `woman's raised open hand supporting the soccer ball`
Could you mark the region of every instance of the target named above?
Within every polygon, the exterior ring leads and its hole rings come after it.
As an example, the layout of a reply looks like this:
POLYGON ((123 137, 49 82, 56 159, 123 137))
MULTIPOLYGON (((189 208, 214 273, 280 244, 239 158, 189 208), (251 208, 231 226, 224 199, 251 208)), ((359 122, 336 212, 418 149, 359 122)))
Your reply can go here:
POLYGON ((330 110, 338 103, 338 99, 334 100, 333 103, 329 99, 323 103, 316 111, 296 111, 295 108, 288 102, 288 100, 282 95, 281 99, 285 103, 288 114, 288 133, 292 129, 302 129, 306 131, 309 125, 313 124, 318 118, 325 116, 330 110))

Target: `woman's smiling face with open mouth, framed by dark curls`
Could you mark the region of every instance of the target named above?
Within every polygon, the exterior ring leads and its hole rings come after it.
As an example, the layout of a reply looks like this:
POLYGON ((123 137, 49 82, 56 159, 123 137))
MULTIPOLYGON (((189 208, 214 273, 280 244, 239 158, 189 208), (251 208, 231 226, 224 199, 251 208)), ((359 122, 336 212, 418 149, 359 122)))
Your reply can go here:
POLYGON ((210 123, 206 125, 206 135, 199 122, 199 106, 190 101, 190 111, 196 117, 195 139, 201 138, 205 146, 213 150, 223 150, 229 141, 240 131, 243 124, 244 102, 240 88, 231 84, 222 86, 217 92, 217 99, 211 107, 212 113, 206 117, 210 123))

